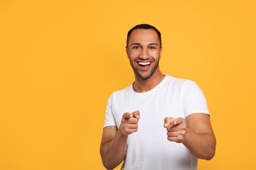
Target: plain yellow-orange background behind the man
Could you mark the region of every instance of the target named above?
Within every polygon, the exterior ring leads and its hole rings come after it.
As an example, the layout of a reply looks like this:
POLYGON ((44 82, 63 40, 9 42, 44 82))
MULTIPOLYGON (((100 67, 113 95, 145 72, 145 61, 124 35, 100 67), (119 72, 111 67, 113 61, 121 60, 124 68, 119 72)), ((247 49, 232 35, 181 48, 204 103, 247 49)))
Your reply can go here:
POLYGON ((207 97, 217 152, 198 169, 255 169, 255 7, 0 1, 0 169, 104 169, 106 101, 134 80, 125 40, 141 23, 162 33, 161 71, 207 97))

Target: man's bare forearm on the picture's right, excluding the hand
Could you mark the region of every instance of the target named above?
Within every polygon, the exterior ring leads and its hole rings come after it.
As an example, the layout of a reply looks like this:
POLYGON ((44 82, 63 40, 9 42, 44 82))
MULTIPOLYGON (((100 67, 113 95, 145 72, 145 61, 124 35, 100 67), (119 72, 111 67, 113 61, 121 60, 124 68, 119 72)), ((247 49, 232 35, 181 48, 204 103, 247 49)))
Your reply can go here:
POLYGON ((211 160, 215 155, 216 139, 213 133, 196 133, 187 128, 183 144, 197 158, 211 160))

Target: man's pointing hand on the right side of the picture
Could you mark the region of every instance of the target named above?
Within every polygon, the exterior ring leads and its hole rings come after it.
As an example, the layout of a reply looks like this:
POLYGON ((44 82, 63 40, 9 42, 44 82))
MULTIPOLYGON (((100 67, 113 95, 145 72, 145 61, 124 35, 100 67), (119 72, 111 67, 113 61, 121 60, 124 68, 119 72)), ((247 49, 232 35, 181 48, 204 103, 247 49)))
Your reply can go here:
POLYGON ((184 118, 165 118, 163 127, 167 129, 167 139, 183 143, 186 139, 186 120, 184 118))

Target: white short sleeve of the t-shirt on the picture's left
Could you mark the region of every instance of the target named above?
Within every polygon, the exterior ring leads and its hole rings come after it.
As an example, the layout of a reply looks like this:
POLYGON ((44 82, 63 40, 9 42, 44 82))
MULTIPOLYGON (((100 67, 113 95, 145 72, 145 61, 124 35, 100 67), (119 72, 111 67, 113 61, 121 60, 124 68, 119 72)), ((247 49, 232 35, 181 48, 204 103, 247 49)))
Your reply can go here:
POLYGON ((106 126, 116 126, 116 120, 115 120, 113 112, 112 112, 112 100, 113 100, 113 94, 110 95, 110 97, 108 99, 108 103, 106 105, 104 127, 106 127, 106 126))

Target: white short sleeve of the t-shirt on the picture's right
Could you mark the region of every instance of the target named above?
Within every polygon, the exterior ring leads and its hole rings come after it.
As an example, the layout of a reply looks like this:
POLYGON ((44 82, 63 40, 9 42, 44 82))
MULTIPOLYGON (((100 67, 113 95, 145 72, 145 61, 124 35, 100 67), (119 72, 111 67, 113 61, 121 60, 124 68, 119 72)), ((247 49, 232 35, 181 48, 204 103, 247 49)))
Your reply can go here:
POLYGON ((209 114, 205 96, 196 82, 184 82, 181 91, 185 117, 197 112, 209 114))

